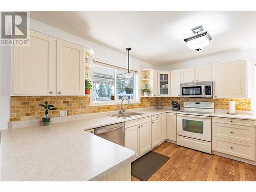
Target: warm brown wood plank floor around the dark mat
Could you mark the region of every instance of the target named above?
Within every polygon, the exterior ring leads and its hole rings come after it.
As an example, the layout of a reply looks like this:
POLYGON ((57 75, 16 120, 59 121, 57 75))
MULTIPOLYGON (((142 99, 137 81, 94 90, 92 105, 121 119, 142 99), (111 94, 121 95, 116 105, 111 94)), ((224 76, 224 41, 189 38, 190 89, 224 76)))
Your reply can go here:
MULTIPOLYGON (((170 159, 147 181, 256 181, 256 166, 164 142, 153 150, 170 159)), ((132 176, 132 181, 139 181, 132 176)))

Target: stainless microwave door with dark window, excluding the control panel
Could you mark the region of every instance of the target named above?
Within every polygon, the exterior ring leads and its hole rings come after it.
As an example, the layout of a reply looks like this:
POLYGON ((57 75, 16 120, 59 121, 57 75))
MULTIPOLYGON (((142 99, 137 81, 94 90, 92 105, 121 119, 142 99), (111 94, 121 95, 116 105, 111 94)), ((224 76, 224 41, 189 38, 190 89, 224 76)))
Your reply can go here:
POLYGON ((182 86, 180 88, 182 97, 203 97, 203 86, 182 86))

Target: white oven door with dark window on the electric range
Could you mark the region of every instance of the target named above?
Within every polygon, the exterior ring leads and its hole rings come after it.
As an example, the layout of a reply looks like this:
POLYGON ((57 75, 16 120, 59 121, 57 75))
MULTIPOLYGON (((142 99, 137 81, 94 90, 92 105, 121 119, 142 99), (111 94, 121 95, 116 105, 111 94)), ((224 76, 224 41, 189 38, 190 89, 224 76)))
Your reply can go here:
POLYGON ((210 117, 178 114, 177 132, 180 136, 211 141, 210 117))

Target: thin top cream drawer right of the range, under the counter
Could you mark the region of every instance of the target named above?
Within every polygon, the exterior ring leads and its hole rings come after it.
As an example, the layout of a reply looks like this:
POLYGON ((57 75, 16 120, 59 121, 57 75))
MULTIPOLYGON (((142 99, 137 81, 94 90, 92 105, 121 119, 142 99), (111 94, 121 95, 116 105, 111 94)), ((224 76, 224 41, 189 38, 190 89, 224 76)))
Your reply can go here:
POLYGON ((245 119, 231 119, 231 118, 222 118, 222 117, 212 117, 212 122, 216 123, 227 123, 227 124, 236 124, 242 126, 255 126, 254 120, 245 120, 245 119))

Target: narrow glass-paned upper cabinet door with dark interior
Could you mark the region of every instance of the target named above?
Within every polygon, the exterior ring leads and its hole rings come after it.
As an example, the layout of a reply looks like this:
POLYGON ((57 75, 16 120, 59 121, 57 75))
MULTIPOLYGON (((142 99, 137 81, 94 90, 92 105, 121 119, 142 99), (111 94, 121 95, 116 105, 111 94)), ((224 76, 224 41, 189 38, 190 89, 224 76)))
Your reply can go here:
POLYGON ((170 73, 158 72, 158 96, 170 96, 170 73))

